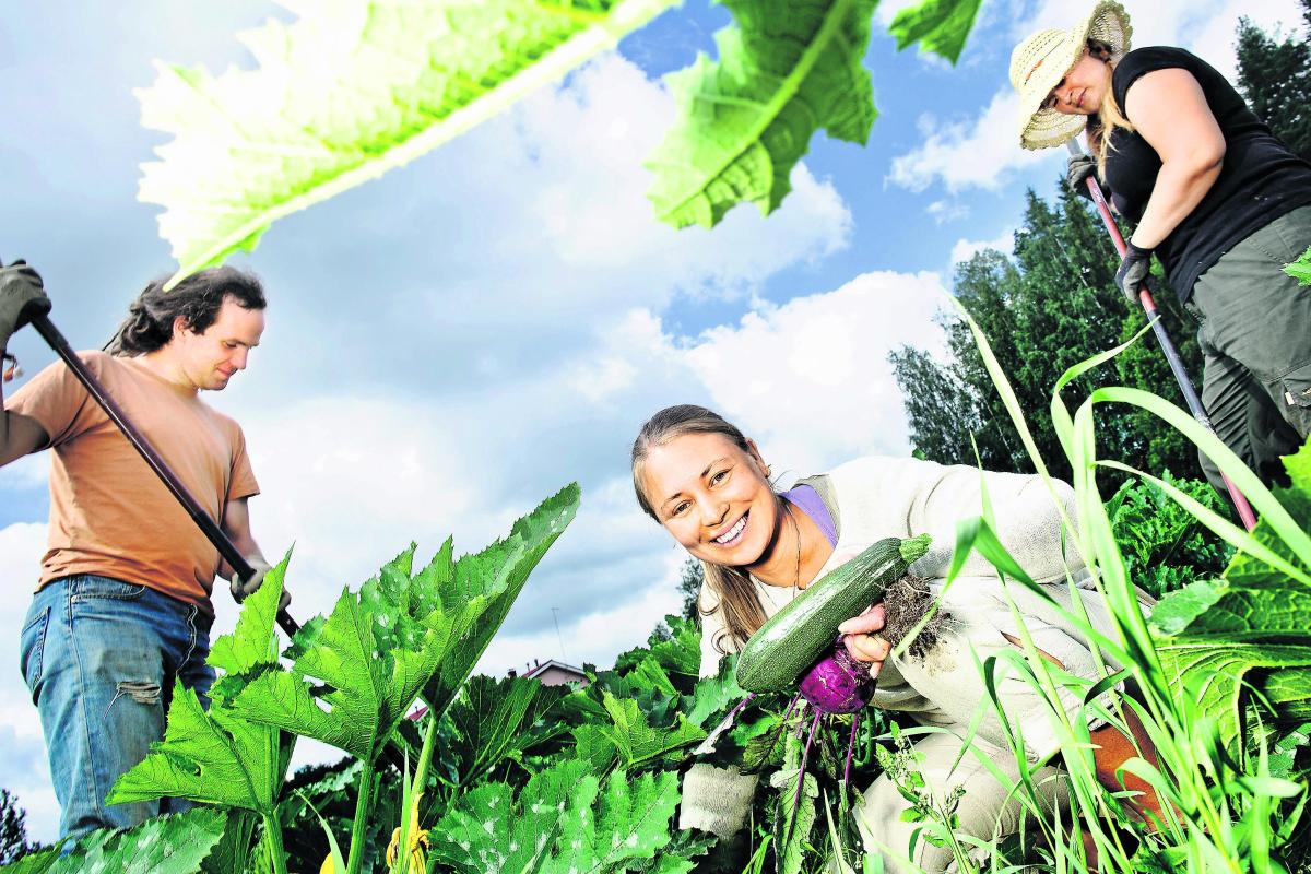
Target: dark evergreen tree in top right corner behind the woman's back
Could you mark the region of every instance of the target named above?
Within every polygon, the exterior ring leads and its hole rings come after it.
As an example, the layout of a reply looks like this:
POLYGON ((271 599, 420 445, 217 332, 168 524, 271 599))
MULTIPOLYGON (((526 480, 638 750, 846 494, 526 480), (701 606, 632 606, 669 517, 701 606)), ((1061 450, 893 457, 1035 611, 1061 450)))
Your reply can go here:
MULTIPOLYGON (((1302 16, 1311 28, 1311 0, 1302 0, 1302 16)), ((1240 18, 1238 86, 1274 135, 1311 160, 1311 43, 1272 37, 1240 18)))

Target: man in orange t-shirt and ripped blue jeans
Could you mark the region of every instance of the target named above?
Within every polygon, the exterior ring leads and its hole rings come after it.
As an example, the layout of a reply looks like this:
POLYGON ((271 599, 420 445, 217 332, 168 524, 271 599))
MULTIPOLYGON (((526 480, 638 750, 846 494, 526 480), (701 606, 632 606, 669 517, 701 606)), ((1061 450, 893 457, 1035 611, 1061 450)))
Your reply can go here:
MULTIPOLYGON (((26 265, 0 267, 0 350, 45 297, 26 265)), ((246 502, 260 487, 236 422, 201 400, 245 370, 264 333, 264 290, 232 267, 172 291, 155 282, 106 351, 79 352, 252 566, 267 562, 246 502)), ((3 397, 0 397, 3 402, 3 397)), ((164 735, 174 680, 202 701, 215 577, 232 570, 62 362, 3 404, 0 466, 51 449, 50 541, 22 629, 22 672, 41 712, 60 835, 125 828, 177 802, 105 805, 114 781, 164 735)))

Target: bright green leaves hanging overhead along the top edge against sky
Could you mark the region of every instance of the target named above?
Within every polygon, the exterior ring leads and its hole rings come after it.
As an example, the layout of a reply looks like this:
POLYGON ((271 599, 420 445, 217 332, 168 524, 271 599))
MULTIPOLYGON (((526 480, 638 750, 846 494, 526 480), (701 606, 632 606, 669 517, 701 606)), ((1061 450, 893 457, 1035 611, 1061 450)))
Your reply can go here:
MULTIPOLYGON (((278 219, 401 166, 556 81, 679 0, 279 0, 299 16, 241 35, 258 68, 159 64, 142 123, 172 134, 139 199, 164 207, 177 282, 254 248, 278 219)), ((813 134, 864 143, 876 0, 725 0, 717 60, 670 77, 680 118, 650 159, 662 220, 766 214, 813 134)), ((956 62, 979 0, 899 13, 898 47, 956 62)))

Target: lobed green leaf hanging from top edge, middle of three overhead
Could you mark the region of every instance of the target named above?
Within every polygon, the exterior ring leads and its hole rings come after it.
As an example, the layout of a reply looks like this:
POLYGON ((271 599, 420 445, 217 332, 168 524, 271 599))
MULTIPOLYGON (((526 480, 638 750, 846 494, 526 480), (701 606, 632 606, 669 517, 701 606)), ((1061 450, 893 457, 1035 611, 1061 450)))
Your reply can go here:
POLYGON ((678 122, 646 164, 648 197, 675 228, 711 228, 742 202, 768 215, 817 130, 864 144, 874 93, 861 60, 876 0, 724 0, 735 24, 718 60, 697 56, 666 83, 678 122))

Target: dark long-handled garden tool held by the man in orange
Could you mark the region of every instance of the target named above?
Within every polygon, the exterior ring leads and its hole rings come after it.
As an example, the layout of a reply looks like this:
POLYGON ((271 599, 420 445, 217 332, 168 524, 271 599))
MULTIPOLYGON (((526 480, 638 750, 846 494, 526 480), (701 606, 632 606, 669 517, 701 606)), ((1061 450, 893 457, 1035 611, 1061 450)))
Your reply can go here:
MULTIPOLYGON (((223 529, 219 528, 218 523, 210 519, 210 515, 195 501, 191 493, 186 490, 186 486, 177 478, 177 474, 169 469, 168 463, 160 457, 160 453, 153 446, 151 446, 151 442, 146 439, 146 435, 138 431, 136 427, 127 421, 122 408, 119 408, 114 398, 109 396, 105 387, 100 384, 100 380, 97 380, 96 376, 87 370, 83 360, 73 354, 73 350, 68 346, 68 341, 59 333, 59 329, 51 324, 49 313, 49 300, 29 304, 18 316, 18 326, 30 322, 31 326, 37 329, 37 333, 41 334, 41 337, 50 345, 50 349, 55 350, 55 354, 59 355, 66 364, 68 364, 68 370, 73 372, 77 381, 87 388, 87 392, 93 398, 96 398, 96 402, 105 410, 105 415, 108 415, 109 419, 118 426, 118 430, 123 432, 123 436, 132 444, 132 448, 140 453, 140 456, 146 460, 146 464, 151 465, 151 470, 153 470, 168 490, 173 493, 173 497, 182 504, 182 508, 191 516, 191 522, 194 522, 201 532, 205 533, 206 539, 214 544, 214 548, 219 550, 219 554, 228 562, 228 566, 232 567, 232 570, 243 580, 250 579, 254 575, 254 567, 250 566, 250 562, 245 560, 245 556, 241 554, 241 550, 237 549, 236 544, 233 544, 232 540, 223 533, 223 529)), ((287 637, 291 637, 300 630, 300 625, 291 618, 291 615, 287 613, 286 609, 278 611, 278 625, 287 633, 287 637)))

